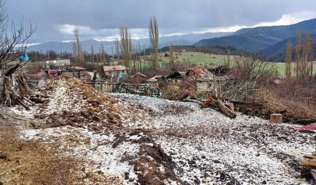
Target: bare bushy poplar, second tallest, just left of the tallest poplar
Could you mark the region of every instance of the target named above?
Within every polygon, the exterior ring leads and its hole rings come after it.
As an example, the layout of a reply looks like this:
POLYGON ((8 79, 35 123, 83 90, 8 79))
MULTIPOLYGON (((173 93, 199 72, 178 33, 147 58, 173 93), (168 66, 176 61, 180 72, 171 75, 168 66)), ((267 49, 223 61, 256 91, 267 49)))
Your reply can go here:
MULTIPOLYGON (((130 67, 130 59, 131 59, 131 50, 132 50, 132 43, 130 38, 129 30, 127 30, 126 26, 120 26, 119 28, 119 35, 120 35, 120 50, 122 52, 122 58, 124 62, 124 66, 126 68, 130 67)), ((128 71, 127 71, 128 72, 128 71)))

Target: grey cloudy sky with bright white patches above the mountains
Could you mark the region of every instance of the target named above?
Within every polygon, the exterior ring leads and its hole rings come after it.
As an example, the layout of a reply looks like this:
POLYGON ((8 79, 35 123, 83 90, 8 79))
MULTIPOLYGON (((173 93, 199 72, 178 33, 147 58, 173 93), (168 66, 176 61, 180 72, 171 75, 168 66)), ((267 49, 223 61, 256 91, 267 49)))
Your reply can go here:
MULTIPOLYGON (((4 0, 2 0, 3 3, 4 0)), ((276 26, 316 18, 316 0, 6 0, 10 21, 23 18, 25 31, 37 25, 30 42, 113 40, 120 25, 134 39, 148 37, 149 17, 159 37, 276 26)))

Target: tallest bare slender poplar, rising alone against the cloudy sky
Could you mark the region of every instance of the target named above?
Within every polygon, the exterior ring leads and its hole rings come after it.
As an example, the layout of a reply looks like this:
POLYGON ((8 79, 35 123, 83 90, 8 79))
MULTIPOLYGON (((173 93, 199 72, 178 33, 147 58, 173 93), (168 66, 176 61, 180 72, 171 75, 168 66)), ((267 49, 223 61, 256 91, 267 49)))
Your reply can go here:
POLYGON ((153 61, 153 67, 155 68, 155 72, 157 73, 158 68, 158 22, 157 18, 149 17, 149 41, 150 41, 150 48, 151 48, 151 55, 153 61))

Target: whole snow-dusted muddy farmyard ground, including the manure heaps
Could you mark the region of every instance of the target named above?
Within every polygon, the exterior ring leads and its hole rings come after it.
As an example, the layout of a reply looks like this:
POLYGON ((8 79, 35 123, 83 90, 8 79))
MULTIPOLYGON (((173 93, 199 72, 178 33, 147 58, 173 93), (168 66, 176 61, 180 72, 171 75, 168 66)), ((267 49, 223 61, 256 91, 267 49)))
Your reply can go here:
POLYGON ((49 92, 38 96, 46 100, 44 106, 39 103, 31 111, 5 108, 11 115, 6 115, 10 124, 5 127, 12 132, 2 129, 7 121, 0 123, 2 183, 315 183, 298 159, 315 150, 316 138, 294 133, 296 125, 269 123, 240 113, 230 119, 195 103, 130 94, 100 95, 88 87, 77 92, 74 89, 81 87, 78 81, 64 87, 63 80, 49 91, 42 90, 42 94, 49 92), (58 90, 61 86, 63 91, 58 90), (81 96, 90 90, 95 96, 83 101, 81 96), (21 161, 25 169, 19 168, 21 161), (41 182, 42 177, 47 177, 47 182, 41 182))

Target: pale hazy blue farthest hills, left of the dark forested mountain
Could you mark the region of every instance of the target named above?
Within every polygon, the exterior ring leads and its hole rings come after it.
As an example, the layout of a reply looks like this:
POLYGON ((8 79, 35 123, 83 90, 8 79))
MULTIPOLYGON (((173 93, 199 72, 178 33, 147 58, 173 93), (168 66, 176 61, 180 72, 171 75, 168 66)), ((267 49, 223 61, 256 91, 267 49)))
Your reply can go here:
MULTIPOLYGON (((204 34, 186 34, 181 36, 164 36, 159 37, 159 48, 171 45, 192 45, 200 39, 204 38, 213 38, 213 37, 222 37, 232 34, 232 32, 221 32, 221 33, 204 33, 204 34)), ((143 49, 143 44, 146 45, 146 48, 149 47, 149 39, 141 38, 141 39, 132 39, 132 43, 138 44, 138 41, 141 44, 141 49, 143 49)), ((96 52, 99 51, 100 41, 90 39, 90 40, 82 40, 80 41, 81 47, 84 51, 90 52, 90 47, 93 45, 94 50, 96 52)), ((111 45, 114 46, 114 41, 103 41, 105 51, 108 54, 111 54, 111 45)), ((61 42, 61 41, 51 41, 46 43, 41 43, 37 45, 31 46, 30 50, 46 52, 48 50, 55 50, 56 52, 73 52, 73 42, 61 42)))

